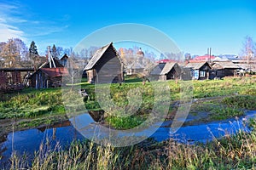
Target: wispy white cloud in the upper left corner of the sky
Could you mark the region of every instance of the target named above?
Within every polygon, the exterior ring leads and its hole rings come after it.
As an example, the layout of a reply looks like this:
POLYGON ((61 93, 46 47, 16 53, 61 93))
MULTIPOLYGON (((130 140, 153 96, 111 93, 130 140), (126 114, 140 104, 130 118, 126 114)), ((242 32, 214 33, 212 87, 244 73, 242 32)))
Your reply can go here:
POLYGON ((68 28, 68 25, 64 24, 70 20, 68 14, 52 20, 44 19, 44 17, 32 18, 31 16, 39 14, 28 10, 29 8, 22 3, 0 3, 0 42, 6 42, 9 38, 15 37, 20 38, 26 44, 31 40, 42 38, 46 41, 50 36, 55 37, 55 33, 68 28))

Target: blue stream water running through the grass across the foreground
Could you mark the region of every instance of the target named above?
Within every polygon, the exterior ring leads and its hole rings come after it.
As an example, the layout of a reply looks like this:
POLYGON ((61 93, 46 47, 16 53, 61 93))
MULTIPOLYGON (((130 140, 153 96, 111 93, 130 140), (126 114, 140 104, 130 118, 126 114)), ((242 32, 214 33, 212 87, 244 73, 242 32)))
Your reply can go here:
MULTIPOLYGON (((84 113, 82 116, 86 123, 96 123, 88 113, 84 113)), ((172 138, 183 143, 206 143, 214 138, 235 134, 240 130, 250 132, 250 128, 245 122, 254 116, 256 116, 256 111, 247 111, 245 116, 238 118, 183 126, 172 134, 170 133, 172 130, 169 126, 170 122, 163 122, 150 138, 156 141, 172 138)), ((90 132, 88 131, 88 133, 90 132)), ((145 129, 145 133, 147 133, 147 129, 145 129)), ((18 156, 26 155, 32 159, 42 143, 50 144, 52 147, 60 144, 61 148, 65 148, 74 139, 83 140, 84 136, 69 121, 52 127, 33 128, 5 134, 0 137, 0 167, 5 167, 8 164, 13 151, 16 151, 18 156)))

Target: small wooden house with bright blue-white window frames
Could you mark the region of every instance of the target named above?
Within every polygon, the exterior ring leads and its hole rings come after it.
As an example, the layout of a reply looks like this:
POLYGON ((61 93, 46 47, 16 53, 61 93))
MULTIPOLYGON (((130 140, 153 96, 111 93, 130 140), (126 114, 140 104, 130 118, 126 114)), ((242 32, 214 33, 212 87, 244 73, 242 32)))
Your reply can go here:
POLYGON ((209 72, 212 66, 207 61, 205 62, 190 62, 184 66, 184 69, 190 69, 191 77, 193 80, 207 80, 209 79, 209 72))

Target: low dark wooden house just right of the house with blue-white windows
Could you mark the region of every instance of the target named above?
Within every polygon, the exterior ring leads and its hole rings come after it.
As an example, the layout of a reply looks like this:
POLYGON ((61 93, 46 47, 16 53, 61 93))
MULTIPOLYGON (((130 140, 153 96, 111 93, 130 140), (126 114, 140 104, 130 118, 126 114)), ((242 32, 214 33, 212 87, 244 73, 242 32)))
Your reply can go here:
POLYGON ((213 61, 212 69, 215 73, 215 77, 234 77, 240 70, 238 65, 235 65, 232 61, 213 61))

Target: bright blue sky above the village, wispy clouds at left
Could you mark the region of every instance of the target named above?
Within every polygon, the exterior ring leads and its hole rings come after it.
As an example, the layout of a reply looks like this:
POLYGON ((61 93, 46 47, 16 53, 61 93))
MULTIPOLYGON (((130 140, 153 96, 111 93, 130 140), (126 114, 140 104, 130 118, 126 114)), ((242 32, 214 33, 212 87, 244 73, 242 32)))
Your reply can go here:
MULTIPOLYGON (((239 54, 247 35, 256 41, 256 1, 5 1, 0 0, 0 42, 20 37, 39 52, 74 47, 104 26, 137 23, 171 37, 190 54, 239 54)), ((154 38, 154 37, 152 37, 154 38)))

